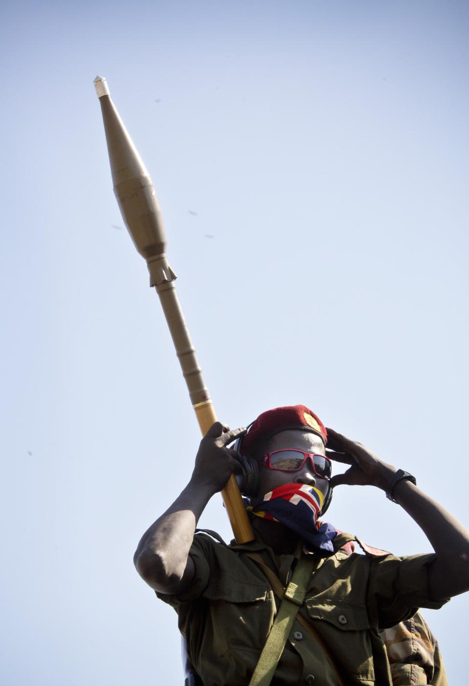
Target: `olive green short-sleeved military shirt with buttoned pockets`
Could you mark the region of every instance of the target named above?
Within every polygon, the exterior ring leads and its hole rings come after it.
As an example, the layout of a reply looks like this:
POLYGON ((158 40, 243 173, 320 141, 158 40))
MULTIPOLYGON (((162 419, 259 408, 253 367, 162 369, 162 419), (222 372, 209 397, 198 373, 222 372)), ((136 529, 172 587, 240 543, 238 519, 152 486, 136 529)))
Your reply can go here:
MULTIPOLYGON (((274 622, 278 600, 250 552, 260 554, 287 585, 293 555, 276 556, 259 539, 228 546, 200 532, 189 553, 195 566, 189 589, 157 594, 176 609, 189 658, 204 686, 247 686, 274 622)), ((320 633, 347 685, 392 686, 379 630, 409 619, 419 607, 444 604, 429 598, 427 567, 434 559, 434 554, 400 558, 340 549, 328 558, 311 555, 300 612, 320 633)), ((338 683, 324 651, 296 620, 272 686, 338 683)))

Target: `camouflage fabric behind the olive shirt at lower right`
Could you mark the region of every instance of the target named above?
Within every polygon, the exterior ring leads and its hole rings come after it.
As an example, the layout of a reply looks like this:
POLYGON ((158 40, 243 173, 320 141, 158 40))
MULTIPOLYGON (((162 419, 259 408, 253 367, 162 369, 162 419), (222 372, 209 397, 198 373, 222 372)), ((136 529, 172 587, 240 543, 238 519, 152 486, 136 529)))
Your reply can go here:
POLYGON ((397 626, 381 630, 380 635, 386 647, 393 686, 448 685, 438 643, 419 612, 397 626))

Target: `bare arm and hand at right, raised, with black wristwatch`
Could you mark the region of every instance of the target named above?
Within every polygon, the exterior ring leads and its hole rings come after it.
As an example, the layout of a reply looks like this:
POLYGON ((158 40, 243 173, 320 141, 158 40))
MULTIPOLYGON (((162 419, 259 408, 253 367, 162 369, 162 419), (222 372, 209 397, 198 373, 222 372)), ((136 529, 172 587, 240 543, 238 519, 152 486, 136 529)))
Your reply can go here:
MULTIPOLYGON (((397 469, 382 462, 361 443, 350 440, 333 429, 328 431, 328 456, 352 464, 344 474, 331 479, 331 485, 370 485, 386 490, 397 469), (342 453, 341 456, 340 453, 342 453)), ((398 482, 394 499, 410 514, 429 539, 437 559, 429 567, 429 593, 440 601, 469 591, 469 532, 453 514, 407 480, 398 482)))

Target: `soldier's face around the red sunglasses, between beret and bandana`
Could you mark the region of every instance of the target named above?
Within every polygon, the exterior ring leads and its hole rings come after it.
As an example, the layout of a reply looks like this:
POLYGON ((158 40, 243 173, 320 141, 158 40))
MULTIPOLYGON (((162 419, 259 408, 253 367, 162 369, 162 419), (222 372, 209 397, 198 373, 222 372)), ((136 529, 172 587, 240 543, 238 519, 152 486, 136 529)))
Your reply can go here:
POLYGON ((275 436, 269 438, 258 453, 259 490, 256 502, 262 500, 264 495, 269 493, 269 490, 284 484, 308 484, 309 486, 315 486, 326 497, 329 488, 328 481, 315 475, 311 468, 310 460, 306 460, 302 468, 294 472, 279 471, 278 469, 269 469, 269 467, 263 466, 261 456, 265 455, 265 453, 284 448, 296 448, 304 450, 306 453, 317 453, 318 455, 326 454, 324 443, 320 437, 316 434, 311 434, 309 431, 288 429, 287 431, 280 431, 280 434, 275 434, 275 436))

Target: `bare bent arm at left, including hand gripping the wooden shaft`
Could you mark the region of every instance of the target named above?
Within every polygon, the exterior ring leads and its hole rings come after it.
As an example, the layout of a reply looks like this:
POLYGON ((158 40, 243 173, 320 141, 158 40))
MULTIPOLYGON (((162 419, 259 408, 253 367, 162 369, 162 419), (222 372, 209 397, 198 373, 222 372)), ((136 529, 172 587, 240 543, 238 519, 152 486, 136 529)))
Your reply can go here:
POLYGON ((195 527, 214 493, 240 469, 237 453, 226 447, 245 429, 230 431, 216 422, 200 442, 194 471, 182 493, 143 534, 134 554, 140 576, 160 593, 182 593, 193 579, 189 556, 195 527))

